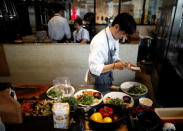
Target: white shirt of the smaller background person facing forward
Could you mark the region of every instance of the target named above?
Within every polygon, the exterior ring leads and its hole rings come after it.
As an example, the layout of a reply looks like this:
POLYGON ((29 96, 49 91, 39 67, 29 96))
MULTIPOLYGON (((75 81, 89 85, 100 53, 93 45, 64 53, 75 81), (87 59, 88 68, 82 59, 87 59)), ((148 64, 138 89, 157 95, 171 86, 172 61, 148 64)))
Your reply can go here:
POLYGON ((73 38, 75 42, 82 41, 83 39, 90 41, 89 32, 83 27, 81 27, 79 31, 75 30, 73 32, 73 38))

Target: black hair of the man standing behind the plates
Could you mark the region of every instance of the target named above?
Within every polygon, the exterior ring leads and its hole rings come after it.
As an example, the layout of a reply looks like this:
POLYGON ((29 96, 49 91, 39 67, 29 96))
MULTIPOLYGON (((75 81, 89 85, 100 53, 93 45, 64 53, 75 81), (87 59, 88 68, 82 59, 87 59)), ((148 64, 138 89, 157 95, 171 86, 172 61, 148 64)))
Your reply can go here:
POLYGON ((128 13, 121 13, 117 15, 112 22, 112 26, 115 24, 119 24, 120 30, 125 31, 127 34, 133 34, 136 32, 136 22, 128 13))

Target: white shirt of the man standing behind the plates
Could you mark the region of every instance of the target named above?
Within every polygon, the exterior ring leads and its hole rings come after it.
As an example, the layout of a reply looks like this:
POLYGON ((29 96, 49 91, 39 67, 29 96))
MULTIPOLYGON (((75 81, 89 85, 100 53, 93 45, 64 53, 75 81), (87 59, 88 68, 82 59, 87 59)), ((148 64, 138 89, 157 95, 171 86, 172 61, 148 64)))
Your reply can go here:
POLYGON ((108 43, 106 33, 109 38, 110 50, 116 49, 113 56, 113 62, 120 60, 119 58, 119 40, 115 40, 109 30, 109 27, 103 29, 92 39, 89 53, 89 69, 92 74, 100 76, 104 68, 104 63, 108 62, 108 43))

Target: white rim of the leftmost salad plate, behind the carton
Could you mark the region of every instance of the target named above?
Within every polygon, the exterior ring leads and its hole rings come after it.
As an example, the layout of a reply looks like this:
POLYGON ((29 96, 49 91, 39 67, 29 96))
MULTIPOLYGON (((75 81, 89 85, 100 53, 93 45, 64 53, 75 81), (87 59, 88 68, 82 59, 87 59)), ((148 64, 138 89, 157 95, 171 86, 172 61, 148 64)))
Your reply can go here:
MULTIPOLYGON (((61 86, 61 85, 54 85, 54 86, 52 86, 52 87, 50 87, 48 90, 47 90, 47 92, 46 92, 46 95, 47 95, 47 93, 51 90, 51 89, 53 89, 53 88, 57 88, 58 86, 61 86)), ((70 96, 72 96, 73 94, 74 94, 74 92, 75 92, 75 89, 74 89, 74 87, 73 86, 70 86, 71 87, 71 92, 69 93, 69 94, 65 94, 64 93, 64 91, 62 91, 62 97, 70 97, 70 96)), ((59 91, 61 91, 61 90, 59 90, 59 91)), ((50 99, 57 99, 58 97, 51 97, 51 96, 49 96, 49 95, 47 95, 50 99)))

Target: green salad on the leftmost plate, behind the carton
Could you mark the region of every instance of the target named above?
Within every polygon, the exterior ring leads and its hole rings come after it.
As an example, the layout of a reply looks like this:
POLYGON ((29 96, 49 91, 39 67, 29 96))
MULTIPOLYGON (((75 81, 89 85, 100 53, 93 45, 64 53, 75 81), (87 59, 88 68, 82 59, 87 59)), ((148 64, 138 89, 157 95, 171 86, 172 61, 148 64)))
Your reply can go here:
POLYGON ((47 92, 47 95, 50 97, 50 98, 58 98, 58 97, 61 97, 63 95, 62 91, 58 88, 58 87, 54 87, 52 89, 50 89, 48 92, 47 92))

